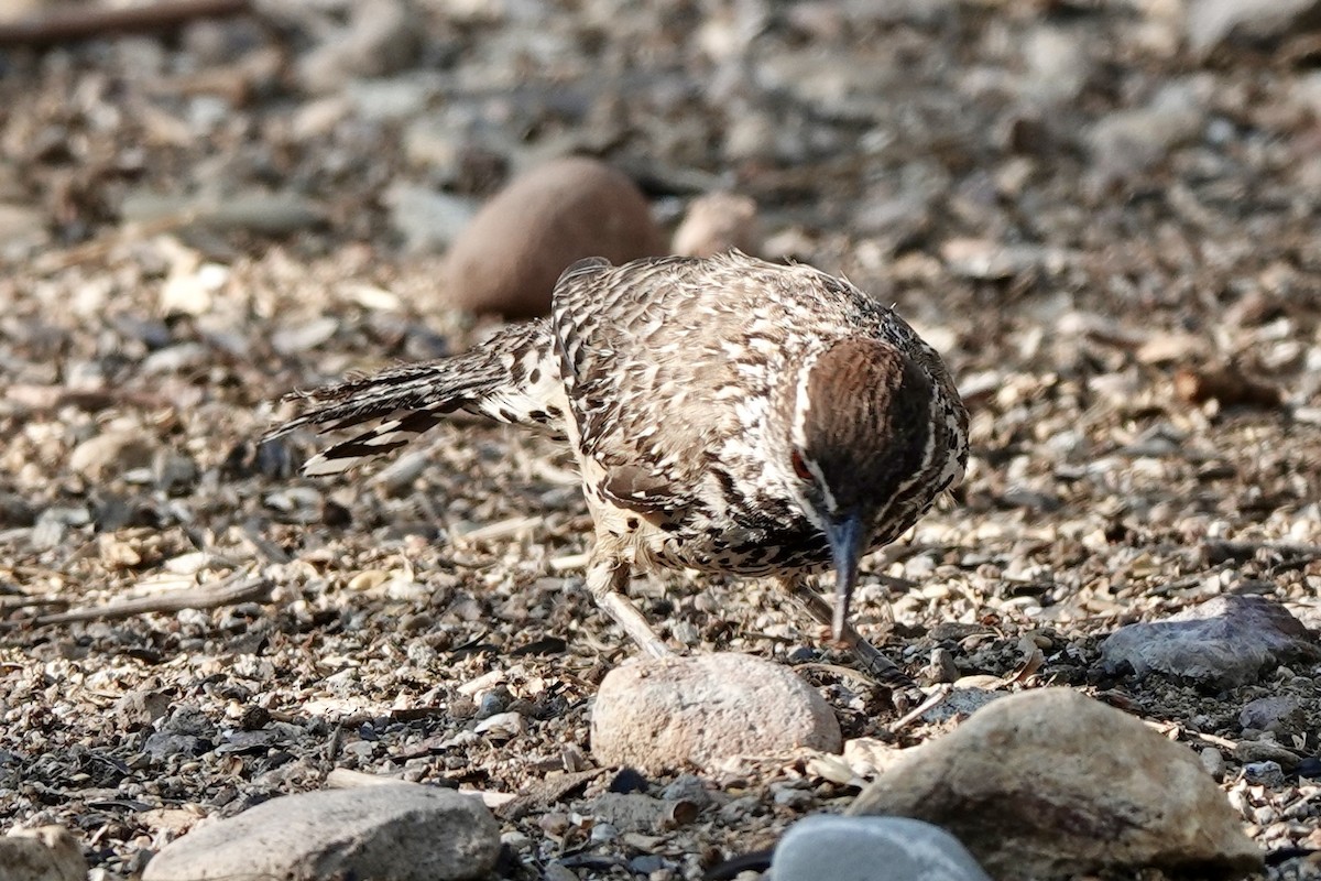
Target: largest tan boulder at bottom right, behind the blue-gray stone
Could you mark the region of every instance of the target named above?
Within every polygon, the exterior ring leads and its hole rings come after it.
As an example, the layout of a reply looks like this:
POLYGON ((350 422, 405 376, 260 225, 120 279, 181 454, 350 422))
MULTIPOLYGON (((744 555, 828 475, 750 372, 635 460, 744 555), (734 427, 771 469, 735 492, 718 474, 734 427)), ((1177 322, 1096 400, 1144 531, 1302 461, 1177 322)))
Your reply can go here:
POLYGON ((1066 688, 978 711, 910 750, 849 814, 935 823, 1000 880, 1125 866, 1239 878, 1263 861, 1190 749, 1066 688))

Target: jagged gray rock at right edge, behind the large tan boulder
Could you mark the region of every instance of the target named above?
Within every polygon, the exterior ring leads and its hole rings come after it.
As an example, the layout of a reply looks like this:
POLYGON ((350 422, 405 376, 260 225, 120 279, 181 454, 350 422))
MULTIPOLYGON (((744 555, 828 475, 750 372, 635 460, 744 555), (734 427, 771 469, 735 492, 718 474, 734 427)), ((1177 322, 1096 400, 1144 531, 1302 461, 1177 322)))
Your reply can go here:
POLYGON ((1308 629, 1283 606, 1260 596, 1225 596, 1168 621, 1120 627, 1100 646, 1110 672, 1132 668, 1184 682, 1234 688, 1292 655, 1314 655, 1308 629))

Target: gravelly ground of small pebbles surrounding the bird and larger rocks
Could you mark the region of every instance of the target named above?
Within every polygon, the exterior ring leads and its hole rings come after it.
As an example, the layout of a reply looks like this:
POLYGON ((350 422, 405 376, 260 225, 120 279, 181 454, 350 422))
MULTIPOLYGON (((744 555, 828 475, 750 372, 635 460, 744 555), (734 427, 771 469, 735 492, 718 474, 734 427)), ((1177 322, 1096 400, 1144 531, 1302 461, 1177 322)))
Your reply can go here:
POLYGON ((199 818, 357 771, 485 793, 499 877, 697 878, 975 705, 900 725, 771 586, 639 580, 675 646, 794 666, 844 754, 601 769, 593 697, 631 647, 552 444, 465 423, 329 481, 296 477, 310 437, 255 445, 291 388, 489 333, 445 248, 580 153, 667 230, 750 197, 761 254, 945 353, 968 478, 868 560, 867 634, 927 686, 1148 721, 1268 877, 1321 872, 1312 4, 227 5, 0 24, 0 827, 129 878, 199 818), (1102 651, 1215 597, 1192 646, 1102 651))

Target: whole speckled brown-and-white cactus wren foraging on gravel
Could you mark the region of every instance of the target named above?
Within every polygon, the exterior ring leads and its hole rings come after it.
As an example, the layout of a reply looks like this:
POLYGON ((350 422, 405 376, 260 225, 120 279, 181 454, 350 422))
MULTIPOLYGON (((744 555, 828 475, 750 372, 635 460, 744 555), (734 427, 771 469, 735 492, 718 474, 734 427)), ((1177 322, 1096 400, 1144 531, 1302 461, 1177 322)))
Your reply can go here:
POLYGON ((967 411, 939 355, 890 309, 806 265, 738 254, 580 260, 552 314, 464 354, 295 394, 273 428, 382 424, 310 458, 342 472, 462 409, 567 439, 596 523, 587 584, 651 654, 634 567, 775 576, 836 641, 911 687, 848 622, 859 559, 963 477, 967 411), (836 572, 831 606, 806 576, 836 572))

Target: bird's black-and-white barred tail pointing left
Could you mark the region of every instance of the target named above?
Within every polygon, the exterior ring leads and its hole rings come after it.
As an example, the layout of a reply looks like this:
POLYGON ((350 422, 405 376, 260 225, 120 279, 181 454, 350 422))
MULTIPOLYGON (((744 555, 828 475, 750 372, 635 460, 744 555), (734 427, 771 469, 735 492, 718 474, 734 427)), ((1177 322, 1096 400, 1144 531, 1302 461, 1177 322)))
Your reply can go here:
POLYGON ((505 423, 548 423, 563 396, 550 324, 513 325, 486 343, 450 358, 403 365, 342 383, 299 391, 287 400, 308 407, 276 425, 262 442, 300 428, 322 432, 384 419, 308 460, 304 474, 338 474, 359 460, 395 450, 462 409, 505 423))

